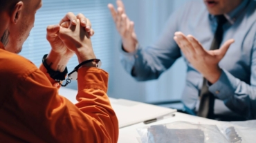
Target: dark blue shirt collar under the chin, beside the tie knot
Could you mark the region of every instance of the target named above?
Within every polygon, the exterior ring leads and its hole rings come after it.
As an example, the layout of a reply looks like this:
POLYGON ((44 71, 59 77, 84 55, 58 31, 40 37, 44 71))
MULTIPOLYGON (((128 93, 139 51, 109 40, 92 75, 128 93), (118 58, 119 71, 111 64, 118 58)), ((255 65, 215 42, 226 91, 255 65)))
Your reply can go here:
MULTIPOLYGON (((226 19, 228 20, 229 23, 231 23, 231 24, 235 23, 237 17, 239 17, 241 12, 246 8, 249 1, 250 0, 242 0, 241 3, 239 4, 239 6, 237 6, 237 8, 235 8, 235 10, 232 10, 231 12, 224 14, 224 16, 226 17, 226 19)), ((210 17, 210 19, 215 18, 214 15, 210 15, 210 14, 209 14, 209 17, 210 17)))

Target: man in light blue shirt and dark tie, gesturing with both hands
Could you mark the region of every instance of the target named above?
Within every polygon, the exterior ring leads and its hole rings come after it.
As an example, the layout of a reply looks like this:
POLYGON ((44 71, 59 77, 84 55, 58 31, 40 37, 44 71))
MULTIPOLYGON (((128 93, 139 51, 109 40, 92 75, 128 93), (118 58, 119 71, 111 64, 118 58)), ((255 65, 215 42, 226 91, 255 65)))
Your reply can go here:
POLYGON ((183 56, 188 66, 182 96, 186 112, 196 115, 199 111, 204 77, 216 98, 216 117, 256 119, 255 0, 189 1, 170 16, 156 44, 147 48, 138 44, 134 22, 125 14, 122 1, 117 4, 117 10, 111 4, 109 9, 122 37, 121 62, 135 79, 157 79, 183 56), (227 22, 221 48, 210 51, 218 15, 227 22))

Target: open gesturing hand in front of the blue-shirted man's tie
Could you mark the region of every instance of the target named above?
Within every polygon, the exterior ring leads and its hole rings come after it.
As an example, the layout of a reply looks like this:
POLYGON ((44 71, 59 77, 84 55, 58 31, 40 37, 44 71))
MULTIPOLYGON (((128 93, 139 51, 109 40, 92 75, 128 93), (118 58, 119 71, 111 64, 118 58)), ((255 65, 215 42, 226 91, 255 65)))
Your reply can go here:
POLYGON ((229 39, 217 50, 205 50, 192 35, 185 36, 182 32, 175 32, 174 40, 190 64, 212 84, 217 82, 221 76, 219 61, 224 57, 230 45, 235 42, 234 39, 229 39))

